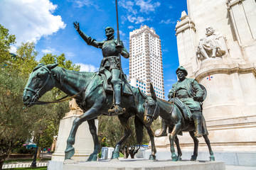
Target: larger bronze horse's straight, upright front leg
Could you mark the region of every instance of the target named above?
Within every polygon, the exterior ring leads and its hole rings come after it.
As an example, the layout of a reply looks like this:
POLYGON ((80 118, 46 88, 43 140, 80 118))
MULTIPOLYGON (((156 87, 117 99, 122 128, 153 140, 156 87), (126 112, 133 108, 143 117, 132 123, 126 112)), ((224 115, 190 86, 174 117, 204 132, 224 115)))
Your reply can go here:
POLYGON ((88 120, 90 133, 92 134, 92 140, 94 143, 94 151, 90 154, 90 157, 87 159, 87 162, 97 161, 97 154, 100 153, 100 142, 97 137, 97 128, 95 126, 95 119, 88 120))

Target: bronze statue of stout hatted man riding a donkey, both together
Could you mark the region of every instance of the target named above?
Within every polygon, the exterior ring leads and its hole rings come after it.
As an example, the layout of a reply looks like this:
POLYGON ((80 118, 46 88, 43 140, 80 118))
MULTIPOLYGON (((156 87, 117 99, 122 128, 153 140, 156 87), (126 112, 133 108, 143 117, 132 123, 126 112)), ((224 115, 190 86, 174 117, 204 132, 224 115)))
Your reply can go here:
POLYGON ((196 160, 198 156, 198 140, 201 137, 206 140, 210 152, 210 161, 214 161, 213 151, 208 139, 206 120, 202 115, 202 102, 206 98, 206 89, 194 79, 187 79, 186 69, 178 67, 176 70, 178 82, 173 85, 169 92, 169 101, 156 98, 154 88, 151 85, 151 96, 145 96, 144 123, 150 126, 152 121, 159 115, 162 118, 163 129, 160 136, 166 135, 166 128, 169 127, 169 140, 171 144, 171 157, 173 161, 181 160, 181 148, 179 147, 177 135, 182 135, 183 131, 189 132, 194 141, 194 152, 191 160, 196 160), (202 89, 203 88, 203 89, 202 89), (178 157, 175 154, 174 142, 177 145, 178 157))

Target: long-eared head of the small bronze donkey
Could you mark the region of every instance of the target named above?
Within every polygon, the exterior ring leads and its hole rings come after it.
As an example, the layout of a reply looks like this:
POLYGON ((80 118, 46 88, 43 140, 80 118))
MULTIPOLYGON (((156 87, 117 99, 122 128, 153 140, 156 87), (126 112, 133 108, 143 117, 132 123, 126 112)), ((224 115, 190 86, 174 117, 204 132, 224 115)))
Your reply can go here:
POLYGON ((159 117, 159 106, 156 101, 156 93, 154 91, 153 85, 150 84, 150 92, 151 96, 146 96, 146 94, 142 94, 142 91, 140 91, 140 94, 142 95, 142 98, 145 99, 143 107, 145 109, 144 111, 144 124, 149 127, 151 123, 156 120, 156 118, 159 117))

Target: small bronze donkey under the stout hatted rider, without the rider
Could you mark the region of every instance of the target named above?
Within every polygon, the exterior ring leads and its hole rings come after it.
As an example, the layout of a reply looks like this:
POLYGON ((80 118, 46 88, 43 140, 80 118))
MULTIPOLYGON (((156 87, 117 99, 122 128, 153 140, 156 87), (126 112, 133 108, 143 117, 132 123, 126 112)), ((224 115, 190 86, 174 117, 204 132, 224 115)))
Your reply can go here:
MULTIPOLYGON (((151 84, 150 86, 151 96, 146 96, 142 94, 145 99, 144 108, 144 123, 146 126, 150 126, 153 120, 155 120, 159 115, 166 122, 166 125, 172 130, 169 135, 170 145, 171 145, 171 158, 173 161, 181 160, 181 147, 179 146, 177 135, 181 132, 189 132, 194 142, 194 150, 193 155, 191 156, 191 161, 196 161, 198 156, 198 139, 194 137, 195 125, 193 124, 193 120, 188 121, 183 117, 183 113, 179 110, 179 108, 170 102, 161 100, 156 98, 156 94, 154 92, 154 88, 151 84), (170 113, 170 111, 172 112, 170 113), (176 147, 178 149, 178 157, 175 154, 174 142, 176 143, 176 147)), ((210 147, 210 140, 208 139, 208 135, 203 135, 203 138, 206 141, 210 152, 210 161, 214 161, 213 151, 210 147)))

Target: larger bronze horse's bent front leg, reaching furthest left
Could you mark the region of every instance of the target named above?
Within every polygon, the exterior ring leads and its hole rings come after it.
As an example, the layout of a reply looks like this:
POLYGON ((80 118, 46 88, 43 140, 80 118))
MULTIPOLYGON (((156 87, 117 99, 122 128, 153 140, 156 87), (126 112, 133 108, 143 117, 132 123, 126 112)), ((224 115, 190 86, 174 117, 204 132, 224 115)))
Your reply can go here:
POLYGON ((80 115, 78 118, 75 118, 73 121, 72 128, 70 130, 70 135, 67 140, 67 147, 65 149, 65 159, 71 159, 75 154, 75 148, 73 147, 75 143, 75 133, 78 131, 79 125, 87 120, 92 120, 99 115, 97 106, 92 106, 88 111, 86 111, 83 115, 80 115))

